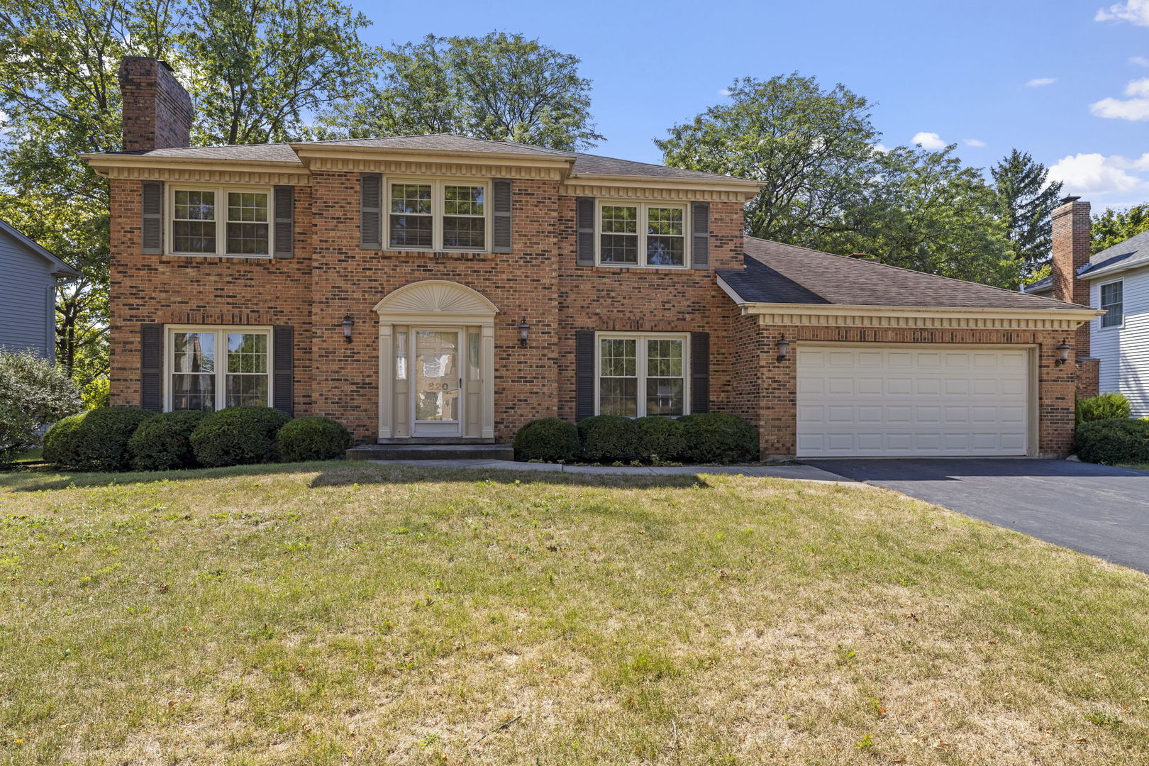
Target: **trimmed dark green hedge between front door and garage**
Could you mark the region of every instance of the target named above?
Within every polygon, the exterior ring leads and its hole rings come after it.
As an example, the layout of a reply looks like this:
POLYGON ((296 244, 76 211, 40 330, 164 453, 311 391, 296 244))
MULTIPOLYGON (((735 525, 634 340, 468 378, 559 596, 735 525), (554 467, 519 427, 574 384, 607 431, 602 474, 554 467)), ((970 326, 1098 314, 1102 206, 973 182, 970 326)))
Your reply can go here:
POLYGON ((515 459, 546 463, 742 463, 758 459, 758 434, 733 415, 680 418, 597 415, 577 426, 532 420, 515 435, 515 459))

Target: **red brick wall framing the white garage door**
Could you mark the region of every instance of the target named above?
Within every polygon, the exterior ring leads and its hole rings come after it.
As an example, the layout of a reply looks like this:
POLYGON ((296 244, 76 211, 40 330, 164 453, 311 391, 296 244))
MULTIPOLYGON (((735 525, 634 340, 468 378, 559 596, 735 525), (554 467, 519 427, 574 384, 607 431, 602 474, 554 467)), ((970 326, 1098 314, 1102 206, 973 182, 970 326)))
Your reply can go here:
MULTIPOLYGON (((749 319, 749 318, 745 318, 749 319)), ((1057 365, 1062 332, 1004 330, 899 330, 872 327, 763 326, 758 328, 758 353, 747 346, 737 359, 740 377, 762 371, 758 426, 764 456, 793 456, 797 431, 797 348, 802 341, 850 343, 1012 343, 1039 347, 1038 357, 1038 451, 1065 455, 1073 442, 1073 407, 1077 367, 1073 359, 1057 365), (777 341, 789 341, 787 358, 777 361, 777 341)), ((753 402, 747 403, 753 408, 753 402)))

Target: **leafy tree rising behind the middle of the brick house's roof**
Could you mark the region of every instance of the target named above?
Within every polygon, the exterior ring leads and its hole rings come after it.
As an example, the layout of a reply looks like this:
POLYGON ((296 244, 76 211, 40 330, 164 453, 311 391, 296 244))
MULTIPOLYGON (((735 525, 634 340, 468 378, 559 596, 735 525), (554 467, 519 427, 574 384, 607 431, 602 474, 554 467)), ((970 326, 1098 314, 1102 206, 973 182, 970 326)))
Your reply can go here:
POLYGON ((565 150, 603 138, 578 57, 538 40, 429 34, 383 55, 379 82, 324 115, 317 137, 458 133, 565 150))

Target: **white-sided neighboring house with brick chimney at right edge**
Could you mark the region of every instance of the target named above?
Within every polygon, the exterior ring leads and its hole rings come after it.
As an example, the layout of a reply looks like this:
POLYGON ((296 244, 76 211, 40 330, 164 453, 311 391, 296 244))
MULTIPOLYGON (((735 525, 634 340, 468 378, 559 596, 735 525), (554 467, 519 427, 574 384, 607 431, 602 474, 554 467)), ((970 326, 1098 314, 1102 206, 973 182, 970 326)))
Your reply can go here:
POLYGON ((1105 312, 1079 331, 1078 346, 1096 367, 1092 389, 1081 394, 1125 394, 1134 417, 1149 417, 1149 232, 1090 256, 1089 203, 1062 202, 1054 212, 1051 273, 1025 292, 1105 312))

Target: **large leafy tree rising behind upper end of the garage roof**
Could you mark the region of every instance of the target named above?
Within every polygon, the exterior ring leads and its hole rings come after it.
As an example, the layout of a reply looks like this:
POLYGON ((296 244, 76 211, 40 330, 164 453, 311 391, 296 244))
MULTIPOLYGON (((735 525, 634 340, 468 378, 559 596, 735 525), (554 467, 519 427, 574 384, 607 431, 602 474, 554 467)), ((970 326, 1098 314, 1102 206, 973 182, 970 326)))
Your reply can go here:
POLYGON ((841 84, 826 90, 796 72, 740 79, 730 103, 655 144, 668 165, 763 181, 747 206, 747 232, 816 247, 840 229, 842 210, 858 204, 878 171, 871 106, 841 84))

